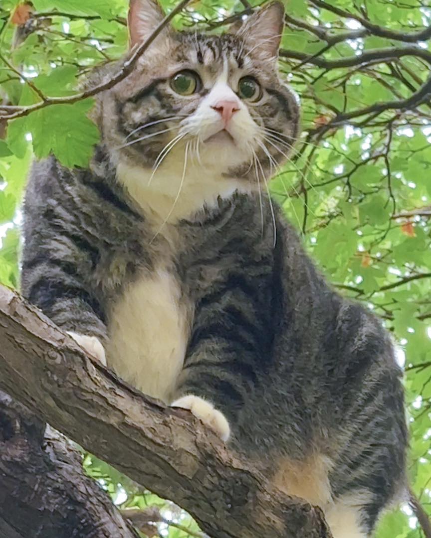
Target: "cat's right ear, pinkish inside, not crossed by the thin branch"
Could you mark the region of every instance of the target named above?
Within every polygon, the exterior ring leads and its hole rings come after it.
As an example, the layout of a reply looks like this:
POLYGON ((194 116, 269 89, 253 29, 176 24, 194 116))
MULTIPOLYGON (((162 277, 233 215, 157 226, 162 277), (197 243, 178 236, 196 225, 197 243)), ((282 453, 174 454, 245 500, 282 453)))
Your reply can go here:
POLYGON ((281 2, 272 2, 247 17, 233 33, 244 39, 259 59, 270 60, 277 58, 283 26, 284 6, 281 2))

